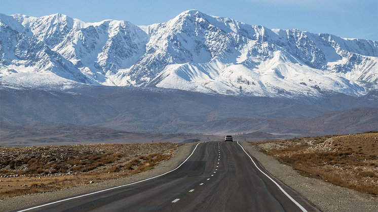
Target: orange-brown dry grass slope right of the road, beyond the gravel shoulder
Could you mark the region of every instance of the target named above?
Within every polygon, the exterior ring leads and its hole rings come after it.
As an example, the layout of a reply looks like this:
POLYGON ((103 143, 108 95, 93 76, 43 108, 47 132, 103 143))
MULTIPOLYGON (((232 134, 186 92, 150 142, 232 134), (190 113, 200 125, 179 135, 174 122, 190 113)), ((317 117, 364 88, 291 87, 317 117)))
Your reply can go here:
POLYGON ((301 175, 378 195, 378 132, 253 144, 301 175))

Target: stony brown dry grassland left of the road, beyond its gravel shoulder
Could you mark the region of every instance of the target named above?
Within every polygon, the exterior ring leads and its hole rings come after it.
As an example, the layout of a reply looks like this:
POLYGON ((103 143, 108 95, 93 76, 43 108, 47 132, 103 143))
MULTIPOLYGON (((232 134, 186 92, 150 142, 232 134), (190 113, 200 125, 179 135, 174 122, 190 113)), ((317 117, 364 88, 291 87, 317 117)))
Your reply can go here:
POLYGON ((1 147, 0 199, 117 179, 168 160, 174 143, 1 147))

